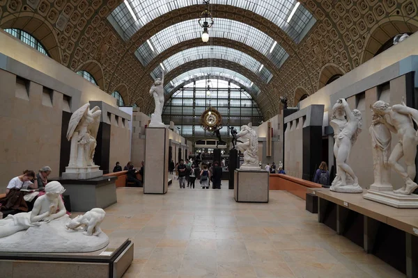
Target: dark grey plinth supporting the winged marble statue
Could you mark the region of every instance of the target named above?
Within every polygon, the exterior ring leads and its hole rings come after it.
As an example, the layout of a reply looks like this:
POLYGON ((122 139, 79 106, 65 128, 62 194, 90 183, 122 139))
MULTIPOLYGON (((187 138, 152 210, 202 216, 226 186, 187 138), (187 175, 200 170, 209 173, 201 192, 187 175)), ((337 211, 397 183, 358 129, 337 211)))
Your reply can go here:
POLYGON ((107 208, 116 204, 117 177, 98 177, 95 179, 51 179, 59 181, 70 196, 72 211, 90 211, 91 208, 107 208))

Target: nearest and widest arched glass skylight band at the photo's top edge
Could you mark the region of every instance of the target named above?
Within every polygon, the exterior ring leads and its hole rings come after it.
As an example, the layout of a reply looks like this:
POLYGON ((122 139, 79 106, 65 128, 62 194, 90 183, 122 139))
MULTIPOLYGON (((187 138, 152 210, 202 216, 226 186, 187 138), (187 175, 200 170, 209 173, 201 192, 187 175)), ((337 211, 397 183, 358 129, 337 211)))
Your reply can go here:
MULTIPOLYGON (((125 0, 109 15, 108 19, 121 37, 128 40, 153 19, 171 10, 201 3, 202 0, 125 0)), ((315 23, 315 18, 311 13, 295 0, 212 0, 210 3, 251 10, 276 24, 295 42, 300 42, 315 23), (290 20, 289 17, 291 17, 290 20)))

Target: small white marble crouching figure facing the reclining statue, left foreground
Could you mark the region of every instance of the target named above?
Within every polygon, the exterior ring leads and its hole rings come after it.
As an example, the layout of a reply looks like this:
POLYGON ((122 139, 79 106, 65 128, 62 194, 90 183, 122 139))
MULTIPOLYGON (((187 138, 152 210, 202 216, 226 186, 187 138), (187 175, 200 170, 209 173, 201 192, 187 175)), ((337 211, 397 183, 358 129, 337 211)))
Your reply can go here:
POLYGON ((78 215, 70 222, 65 224, 67 229, 77 230, 79 227, 84 226, 82 229, 83 234, 86 236, 98 236, 102 233, 100 224, 104 219, 106 213, 102 208, 93 208, 91 211, 87 211, 84 215, 78 215))

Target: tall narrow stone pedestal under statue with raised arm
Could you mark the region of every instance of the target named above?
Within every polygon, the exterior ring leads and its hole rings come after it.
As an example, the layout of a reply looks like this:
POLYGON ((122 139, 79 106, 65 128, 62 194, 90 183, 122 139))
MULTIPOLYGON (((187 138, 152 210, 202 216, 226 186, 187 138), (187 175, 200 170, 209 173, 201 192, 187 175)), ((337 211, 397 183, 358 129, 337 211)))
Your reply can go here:
POLYGON ((169 188, 169 131, 148 127, 145 136, 144 194, 165 194, 169 188))

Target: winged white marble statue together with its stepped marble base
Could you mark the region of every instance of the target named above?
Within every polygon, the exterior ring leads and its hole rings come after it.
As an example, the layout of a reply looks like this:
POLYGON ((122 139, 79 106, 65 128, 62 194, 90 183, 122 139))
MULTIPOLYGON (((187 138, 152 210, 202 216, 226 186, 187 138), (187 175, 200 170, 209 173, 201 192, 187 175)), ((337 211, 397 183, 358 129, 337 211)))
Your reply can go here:
POLYGON ((102 176, 103 171, 93 161, 100 115, 100 108, 95 106, 90 110, 90 104, 84 104, 72 114, 67 131, 67 139, 71 141, 70 163, 63 172, 64 179, 93 179, 102 176))

